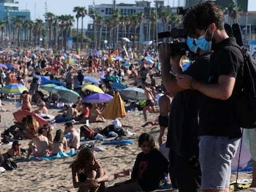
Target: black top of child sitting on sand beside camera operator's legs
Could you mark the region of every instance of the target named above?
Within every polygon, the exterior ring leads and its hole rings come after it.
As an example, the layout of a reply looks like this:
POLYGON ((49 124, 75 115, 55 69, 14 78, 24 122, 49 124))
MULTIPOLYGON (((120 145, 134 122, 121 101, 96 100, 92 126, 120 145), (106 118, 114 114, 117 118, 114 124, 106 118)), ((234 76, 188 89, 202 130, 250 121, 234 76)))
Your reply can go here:
POLYGON ((168 161, 158 149, 148 154, 140 152, 135 160, 131 177, 138 181, 143 191, 158 189, 160 180, 168 173, 168 161))

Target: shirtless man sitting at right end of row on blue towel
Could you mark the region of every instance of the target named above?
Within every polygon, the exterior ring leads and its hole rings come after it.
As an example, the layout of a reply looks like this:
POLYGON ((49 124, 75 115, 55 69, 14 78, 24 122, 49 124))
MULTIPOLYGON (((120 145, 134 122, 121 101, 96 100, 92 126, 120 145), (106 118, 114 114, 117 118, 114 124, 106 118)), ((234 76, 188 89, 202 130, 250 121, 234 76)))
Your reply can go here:
POLYGON ((67 146, 72 149, 79 149, 80 147, 80 134, 77 130, 73 127, 71 122, 65 123, 65 131, 64 134, 70 133, 69 141, 67 142, 67 146))

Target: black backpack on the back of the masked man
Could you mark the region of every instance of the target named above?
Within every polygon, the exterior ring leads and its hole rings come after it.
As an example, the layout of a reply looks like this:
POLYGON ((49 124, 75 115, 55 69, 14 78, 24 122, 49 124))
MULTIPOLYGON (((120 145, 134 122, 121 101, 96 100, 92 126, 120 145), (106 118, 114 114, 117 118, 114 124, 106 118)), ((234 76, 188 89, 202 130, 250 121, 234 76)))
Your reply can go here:
POLYGON ((250 56, 246 48, 236 46, 242 51, 244 65, 242 65, 243 86, 240 93, 234 96, 234 112, 237 122, 242 128, 256 128, 256 60, 250 56))

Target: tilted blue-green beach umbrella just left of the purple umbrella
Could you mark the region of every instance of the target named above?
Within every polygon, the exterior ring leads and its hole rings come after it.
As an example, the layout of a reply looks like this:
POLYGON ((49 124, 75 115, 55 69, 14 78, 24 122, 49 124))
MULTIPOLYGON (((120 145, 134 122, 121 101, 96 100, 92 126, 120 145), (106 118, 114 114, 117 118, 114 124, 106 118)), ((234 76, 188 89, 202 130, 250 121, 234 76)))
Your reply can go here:
POLYGON ((74 90, 69 90, 64 86, 55 86, 52 93, 59 94, 60 98, 66 102, 75 102, 80 96, 79 93, 74 90))

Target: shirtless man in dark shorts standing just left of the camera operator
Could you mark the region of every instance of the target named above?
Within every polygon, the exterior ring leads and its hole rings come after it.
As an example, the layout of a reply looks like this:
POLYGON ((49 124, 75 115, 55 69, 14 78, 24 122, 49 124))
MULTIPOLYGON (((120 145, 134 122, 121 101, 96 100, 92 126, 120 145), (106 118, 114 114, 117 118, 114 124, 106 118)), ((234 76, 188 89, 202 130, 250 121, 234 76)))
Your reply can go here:
POLYGON ((158 139, 159 146, 163 144, 164 132, 166 127, 168 127, 169 112, 171 109, 171 102, 173 101, 172 98, 173 94, 166 92, 158 99, 158 106, 160 110, 160 114, 158 116, 158 123, 160 125, 160 135, 158 139))

